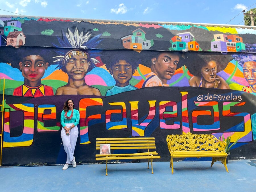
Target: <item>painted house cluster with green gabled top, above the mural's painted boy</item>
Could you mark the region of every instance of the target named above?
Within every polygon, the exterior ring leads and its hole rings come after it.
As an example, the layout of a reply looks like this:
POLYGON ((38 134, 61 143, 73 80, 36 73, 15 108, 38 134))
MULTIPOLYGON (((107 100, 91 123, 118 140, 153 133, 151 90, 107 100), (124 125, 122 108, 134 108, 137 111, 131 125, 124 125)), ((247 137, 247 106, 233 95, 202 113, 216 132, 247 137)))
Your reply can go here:
POLYGON ((146 32, 138 28, 132 32, 132 35, 122 37, 123 47, 126 49, 149 49, 151 41, 145 38, 146 32))

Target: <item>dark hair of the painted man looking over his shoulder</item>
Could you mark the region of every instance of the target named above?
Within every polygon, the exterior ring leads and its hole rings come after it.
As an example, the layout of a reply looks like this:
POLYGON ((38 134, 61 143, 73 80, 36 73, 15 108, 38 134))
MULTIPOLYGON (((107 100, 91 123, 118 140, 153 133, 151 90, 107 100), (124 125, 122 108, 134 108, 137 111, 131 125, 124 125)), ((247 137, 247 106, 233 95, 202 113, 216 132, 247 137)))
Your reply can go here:
MULTIPOLYGON (((142 65, 146 66, 146 67, 151 67, 152 65, 152 58, 158 58, 158 56, 161 53, 165 53, 166 51, 141 51, 140 55, 141 55, 141 61, 142 61, 142 65)), ((185 64, 185 55, 184 53, 180 53, 180 52, 176 52, 176 51, 168 51, 167 53, 172 53, 174 55, 177 55, 179 57, 179 63, 177 64, 177 69, 182 67, 185 64)))

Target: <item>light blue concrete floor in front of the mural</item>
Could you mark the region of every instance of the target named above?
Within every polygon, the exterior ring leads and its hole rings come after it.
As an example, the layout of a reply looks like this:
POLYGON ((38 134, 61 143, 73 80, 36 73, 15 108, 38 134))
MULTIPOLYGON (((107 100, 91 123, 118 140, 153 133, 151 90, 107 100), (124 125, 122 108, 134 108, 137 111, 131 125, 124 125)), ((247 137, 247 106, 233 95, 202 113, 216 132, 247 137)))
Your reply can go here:
POLYGON ((256 160, 0 167, 0 191, 254 191, 256 160))

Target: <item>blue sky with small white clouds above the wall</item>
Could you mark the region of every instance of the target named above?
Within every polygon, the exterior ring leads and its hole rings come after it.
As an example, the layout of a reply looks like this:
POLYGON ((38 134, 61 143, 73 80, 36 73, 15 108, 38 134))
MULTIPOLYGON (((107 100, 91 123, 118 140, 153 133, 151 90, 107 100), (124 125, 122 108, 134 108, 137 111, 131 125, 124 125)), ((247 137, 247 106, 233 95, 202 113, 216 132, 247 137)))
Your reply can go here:
POLYGON ((0 15, 243 25, 242 11, 255 8, 256 1, 0 0, 0 5, 5 10, 0 10, 0 15))

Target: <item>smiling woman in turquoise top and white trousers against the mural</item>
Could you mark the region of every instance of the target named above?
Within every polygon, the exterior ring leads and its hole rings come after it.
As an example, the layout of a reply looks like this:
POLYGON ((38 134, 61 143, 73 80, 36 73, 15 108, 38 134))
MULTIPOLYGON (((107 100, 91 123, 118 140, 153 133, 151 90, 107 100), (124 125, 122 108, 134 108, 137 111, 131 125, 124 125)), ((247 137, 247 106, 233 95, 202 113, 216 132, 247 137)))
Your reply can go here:
POLYGON ((72 99, 68 99, 64 103, 63 110, 61 112, 61 139, 64 146, 64 150, 67 153, 67 161, 62 170, 69 168, 69 164, 72 163, 73 167, 77 166, 74 151, 77 143, 78 128, 80 114, 78 110, 74 109, 75 105, 72 99))

